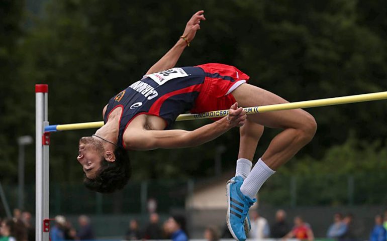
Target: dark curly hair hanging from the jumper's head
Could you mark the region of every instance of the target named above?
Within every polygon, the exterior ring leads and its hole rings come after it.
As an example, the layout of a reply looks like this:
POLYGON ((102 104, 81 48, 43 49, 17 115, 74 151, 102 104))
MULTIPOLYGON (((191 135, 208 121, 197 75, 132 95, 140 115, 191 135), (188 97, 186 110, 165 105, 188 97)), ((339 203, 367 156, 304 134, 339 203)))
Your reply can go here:
POLYGON ((112 193, 121 190, 128 183, 132 174, 128 152, 118 147, 114 151, 116 160, 108 162, 104 158, 101 161, 101 168, 95 178, 83 179, 83 184, 90 190, 100 193, 112 193))

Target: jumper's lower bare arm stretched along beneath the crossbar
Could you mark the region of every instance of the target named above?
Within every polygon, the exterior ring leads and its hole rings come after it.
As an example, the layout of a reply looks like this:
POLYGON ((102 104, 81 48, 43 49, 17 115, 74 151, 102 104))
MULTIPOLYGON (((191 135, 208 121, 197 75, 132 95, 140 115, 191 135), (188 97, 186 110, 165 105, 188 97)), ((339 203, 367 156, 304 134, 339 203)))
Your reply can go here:
POLYGON ((214 140, 233 127, 243 126, 246 117, 246 112, 241 107, 238 108, 238 103, 235 103, 230 108, 229 117, 223 117, 217 122, 196 130, 146 131, 134 129, 130 131, 130 140, 126 140, 125 144, 132 150, 199 146, 214 140))

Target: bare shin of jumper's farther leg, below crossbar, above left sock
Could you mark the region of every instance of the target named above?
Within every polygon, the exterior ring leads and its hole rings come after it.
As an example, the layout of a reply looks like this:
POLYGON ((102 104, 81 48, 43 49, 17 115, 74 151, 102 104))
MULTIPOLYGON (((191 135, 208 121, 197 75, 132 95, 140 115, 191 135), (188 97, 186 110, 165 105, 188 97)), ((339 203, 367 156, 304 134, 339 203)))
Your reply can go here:
POLYGON ((252 161, 258 141, 263 134, 263 126, 247 119, 245 125, 240 128, 239 158, 245 158, 252 161))

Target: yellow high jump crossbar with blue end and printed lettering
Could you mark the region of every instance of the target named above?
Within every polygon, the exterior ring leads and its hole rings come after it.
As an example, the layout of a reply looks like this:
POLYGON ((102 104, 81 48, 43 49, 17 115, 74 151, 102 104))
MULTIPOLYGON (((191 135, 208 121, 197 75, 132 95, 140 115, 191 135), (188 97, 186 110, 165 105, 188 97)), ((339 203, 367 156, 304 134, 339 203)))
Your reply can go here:
MULTIPOLYGON (((269 111, 278 111, 286 109, 299 109, 299 108, 311 108, 327 105, 336 105, 336 104, 349 104, 356 102, 364 102, 371 100, 380 100, 387 99, 387 91, 368 93, 368 94, 358 94, 358 95, 349 95, 335 98, 326 98, 326 99, 314 99, 307 101, 299 101, 293 103, 283 103, 283 104, 272 104, 264 106, 255 106, 255 107, 246 107, 244 110, 247 114, 254 113, 263 113, 269 111)), ((225 110, 216 110, 198 114, 180 114, 177 116, 176 121, 188 121, 190 119, 206 119, 212 117, 223 117, 228 114, 228 109, 225 110)), ((79 129, 90 129, 90 128, 100 128, 104 125, 104 122, 87 122, 87 123, 77 123, 77 124, 65 124, 57 125, 57 131, 69 131, 69 130, 79 130, 79 129)))

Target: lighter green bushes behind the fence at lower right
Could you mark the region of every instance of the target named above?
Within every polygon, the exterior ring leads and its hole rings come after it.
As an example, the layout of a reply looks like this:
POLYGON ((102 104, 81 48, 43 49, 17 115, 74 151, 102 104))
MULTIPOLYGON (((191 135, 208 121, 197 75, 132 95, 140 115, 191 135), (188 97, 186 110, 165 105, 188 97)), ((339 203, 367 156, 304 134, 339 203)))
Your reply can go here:
POLYGON ((259 195, 274 205, 380 204, 387 201, 387 149, 378 141, 359 141, 352 134, 341 145, 329 148, 317 160, 295 158, 295 165, 273 176, 259 195))

